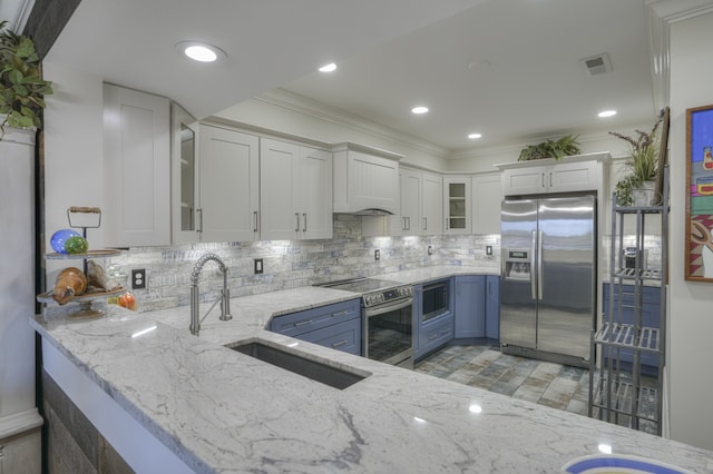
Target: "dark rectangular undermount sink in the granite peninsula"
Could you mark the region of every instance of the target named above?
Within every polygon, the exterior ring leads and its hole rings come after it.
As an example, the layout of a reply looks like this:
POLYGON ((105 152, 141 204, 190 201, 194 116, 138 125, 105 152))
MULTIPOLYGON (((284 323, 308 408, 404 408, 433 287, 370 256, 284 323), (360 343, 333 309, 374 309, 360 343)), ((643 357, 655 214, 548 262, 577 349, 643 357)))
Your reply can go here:
POLYGON ((253 342, 227 347, 339 389, 344 389, 367 378, 363 375, 332 367, 263 343, 253 342))

